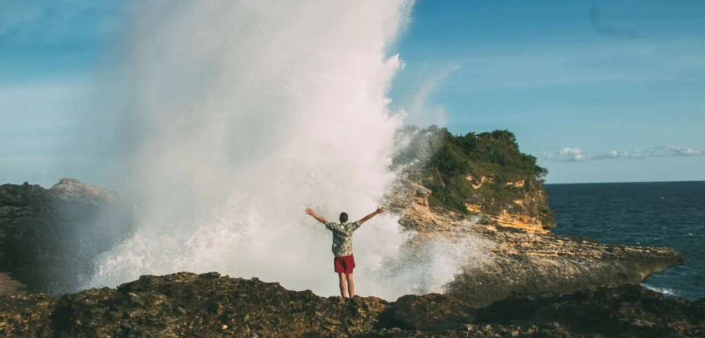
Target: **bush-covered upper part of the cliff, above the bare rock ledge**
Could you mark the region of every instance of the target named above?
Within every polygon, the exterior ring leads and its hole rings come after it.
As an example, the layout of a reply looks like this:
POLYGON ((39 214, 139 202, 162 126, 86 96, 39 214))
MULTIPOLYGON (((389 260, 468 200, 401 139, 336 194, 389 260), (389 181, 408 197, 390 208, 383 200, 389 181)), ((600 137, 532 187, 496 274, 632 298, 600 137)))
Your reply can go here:
POLYGON ((431 189, 431 206, 471 213, 471 204, 482 213, 506 211, 553 225, 541 187, 548 170, 519 150, 512 132, 453 135, 432 125, 425 130, 405 127, 397 136, 409 143, 393 159, 393 167, 404 168, 411 180, 431 189))

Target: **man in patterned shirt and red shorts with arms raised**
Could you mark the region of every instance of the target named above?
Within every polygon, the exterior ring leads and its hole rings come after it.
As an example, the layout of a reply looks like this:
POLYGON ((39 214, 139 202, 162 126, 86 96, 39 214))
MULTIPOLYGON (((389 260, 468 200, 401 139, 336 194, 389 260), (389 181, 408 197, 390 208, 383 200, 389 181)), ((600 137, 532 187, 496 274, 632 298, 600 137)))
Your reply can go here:
POLYGON ((320 223, 326 225, 326 229, 333 232, 333 268, 338 273, 341 285, 341 296, 345 298, 345 282, 348 282, 347 291, 350 298, 355 296, 355 284, 353 283, 353 269, 355 268, 355 256, 353 256, 353 232, 360 228, 362 223, 367 222, 379 213, 384 213, 384 207, 377 208, 374 213, 364 216, 362 220, 348 223, 348 214, 341 213, 341 223, 329 222, 325 218, 314 213, 311 208, 306 208, 306 214, 312 215, 320 223))

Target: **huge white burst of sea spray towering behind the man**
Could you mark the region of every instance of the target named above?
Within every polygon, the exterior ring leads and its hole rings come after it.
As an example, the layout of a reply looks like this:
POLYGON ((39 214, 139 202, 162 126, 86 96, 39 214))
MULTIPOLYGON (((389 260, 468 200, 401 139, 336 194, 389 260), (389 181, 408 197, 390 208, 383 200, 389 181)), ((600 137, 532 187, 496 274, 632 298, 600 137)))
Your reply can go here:
MULTIPOLYGON (((386 93, 403 62, 386 53, 412 3, 135 3, 106 82, 125 98, 116 185, 140 217, 85 287, 185 270, 338 294, 331 233, 304 210, 360 219, 396 179, 404 115, 386 93)), ((469 254, 429 242, 409 255, 412 235, 390 213, 355 232, 357 294, 439 292, 469 254)))

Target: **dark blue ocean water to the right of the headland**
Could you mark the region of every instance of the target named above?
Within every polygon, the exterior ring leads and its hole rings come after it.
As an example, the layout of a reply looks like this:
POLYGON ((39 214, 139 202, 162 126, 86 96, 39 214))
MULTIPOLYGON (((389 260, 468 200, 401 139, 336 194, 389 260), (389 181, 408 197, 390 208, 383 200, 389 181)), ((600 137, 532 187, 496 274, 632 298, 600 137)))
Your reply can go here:
POLYGON ((642 285, 666 296, 705 297, 705 182, 545 184, 556 213, 553 233, 605 244, 668 246, 685 265, 642 285))

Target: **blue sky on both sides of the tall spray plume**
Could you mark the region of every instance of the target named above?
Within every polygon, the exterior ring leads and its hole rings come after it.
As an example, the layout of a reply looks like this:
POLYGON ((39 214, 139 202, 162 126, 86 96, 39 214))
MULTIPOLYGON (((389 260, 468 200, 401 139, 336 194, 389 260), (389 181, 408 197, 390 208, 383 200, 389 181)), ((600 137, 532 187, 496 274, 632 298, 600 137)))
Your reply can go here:
MULTIPOLYGON (((118 4, 0 3, 1 182, 90 176, 56 142, 80 145, 67 114, 121 30, 118 4)), ((548 182, 705 180, 704 41, 705 1, 418 0, 390 95, 418 125, 511 130, 548 182), (598 32, 591 6, 637 35, 598 32)))

